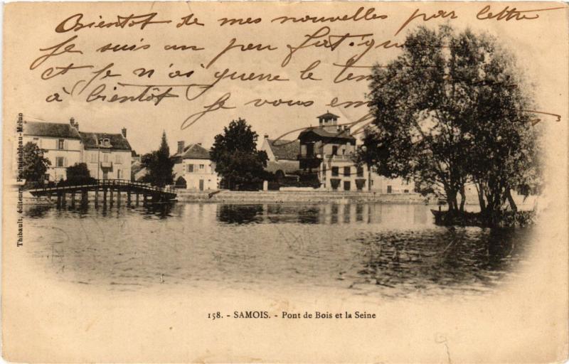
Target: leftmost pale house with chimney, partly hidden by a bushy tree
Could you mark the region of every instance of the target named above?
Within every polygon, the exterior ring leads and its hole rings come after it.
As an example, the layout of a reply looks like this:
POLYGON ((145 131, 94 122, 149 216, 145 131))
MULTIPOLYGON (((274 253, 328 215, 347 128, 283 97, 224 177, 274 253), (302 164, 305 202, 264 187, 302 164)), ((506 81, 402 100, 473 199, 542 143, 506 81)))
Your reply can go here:
POLYGON ((23 144, 31 141, 45 150, 50 160, 47 171, 50 181, 67 179, 65 168, 80 163, 82 154, 79 124, 71 118, 69 124, 55 122, 23 122, 23 144))

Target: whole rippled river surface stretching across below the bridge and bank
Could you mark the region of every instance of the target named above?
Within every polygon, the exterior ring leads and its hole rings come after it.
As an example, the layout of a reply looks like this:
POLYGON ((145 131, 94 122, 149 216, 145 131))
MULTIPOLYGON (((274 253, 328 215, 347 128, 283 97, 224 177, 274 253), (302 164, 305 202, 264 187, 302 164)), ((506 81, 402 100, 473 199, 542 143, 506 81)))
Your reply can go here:
POLYGON ((442 228, 425 205, 28 207, 38 271, 111 290, 156 285, 480 294, 523 264, 528 230, 442 228))

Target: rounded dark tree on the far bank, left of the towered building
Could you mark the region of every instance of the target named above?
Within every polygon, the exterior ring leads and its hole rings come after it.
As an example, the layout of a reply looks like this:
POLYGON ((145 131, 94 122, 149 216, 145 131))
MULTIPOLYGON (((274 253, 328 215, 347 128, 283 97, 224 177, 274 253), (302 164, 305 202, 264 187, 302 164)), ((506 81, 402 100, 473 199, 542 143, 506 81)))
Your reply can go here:
POLYGON ((216 135, 211 159, 221 183, 230 189, 254 189, 267 178, 267 154, 257 151, 257 133, 244 119, 233 120, 216 135))

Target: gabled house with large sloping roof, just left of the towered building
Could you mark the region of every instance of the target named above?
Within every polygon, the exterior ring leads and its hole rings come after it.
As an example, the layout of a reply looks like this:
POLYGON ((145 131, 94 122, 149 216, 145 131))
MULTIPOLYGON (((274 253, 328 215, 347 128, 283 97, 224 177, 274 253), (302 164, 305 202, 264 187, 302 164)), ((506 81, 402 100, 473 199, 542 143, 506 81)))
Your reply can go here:
POLYGON ((265 134, 260 150, 265 151, 269 158, 265 169, 275 173, 277 178, 283 178, 299 171, 300 142, 298 140, 269 139, 269 136, 265 134))

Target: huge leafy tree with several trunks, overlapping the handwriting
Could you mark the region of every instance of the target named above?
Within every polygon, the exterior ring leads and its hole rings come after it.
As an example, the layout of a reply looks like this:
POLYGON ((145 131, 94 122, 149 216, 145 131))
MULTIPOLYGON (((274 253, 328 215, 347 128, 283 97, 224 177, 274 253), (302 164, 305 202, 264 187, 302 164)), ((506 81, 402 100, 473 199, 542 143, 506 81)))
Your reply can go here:
POLYGON ((424 27, 403 53, 373 68, 361 159, 388 177, 413 178, 464 208, 477 183, 483 211, 499 211, 511 189, 538 182, 536 129, 514 57, 494 38, 424 27), (458 200, 460 196, 460 202, 458 200))

